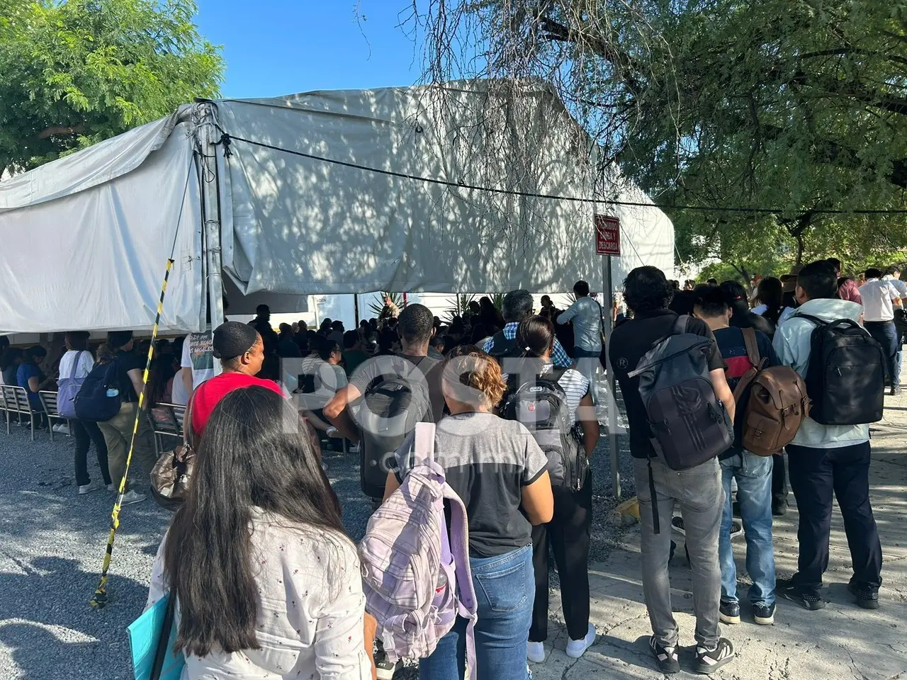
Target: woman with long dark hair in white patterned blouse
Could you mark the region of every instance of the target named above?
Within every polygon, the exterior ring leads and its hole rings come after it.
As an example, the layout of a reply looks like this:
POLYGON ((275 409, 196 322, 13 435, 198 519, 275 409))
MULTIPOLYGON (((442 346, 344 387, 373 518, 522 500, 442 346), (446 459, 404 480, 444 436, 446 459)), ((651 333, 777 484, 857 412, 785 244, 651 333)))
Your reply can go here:
POLYGON ((304 432, 258 385, 211 413, 148 596, 179 603, 184 680, 372 677, 356 546, 304 432))

